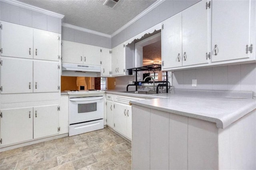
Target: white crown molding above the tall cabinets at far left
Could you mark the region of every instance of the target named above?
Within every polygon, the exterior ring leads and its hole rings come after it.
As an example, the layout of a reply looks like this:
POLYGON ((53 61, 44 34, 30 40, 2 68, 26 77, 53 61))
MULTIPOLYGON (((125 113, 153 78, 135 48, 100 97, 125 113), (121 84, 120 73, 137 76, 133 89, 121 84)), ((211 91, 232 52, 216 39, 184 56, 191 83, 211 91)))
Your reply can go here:
POLYGON ((64 17, 64 15, 62 15, 62 14, 58 14, 58 13, 55 13, 55 12, 44 10, 42 8, 38 8, 38 7, 32 6, 32 5, 28 5, 28 4, 25 4, 25 3, 17 1, 17 0, 0 0, 0 1, 6 2, 8 4, 15 5, 15 6, 19 6, 19 7, 22 7, 22 8, 26 8, 28 10, 32 10, 32 11, 35 11, 35 12, 40 12, 42 14, 53 16, 53 17, 56 17, 56 18, 62 19, 64 17))

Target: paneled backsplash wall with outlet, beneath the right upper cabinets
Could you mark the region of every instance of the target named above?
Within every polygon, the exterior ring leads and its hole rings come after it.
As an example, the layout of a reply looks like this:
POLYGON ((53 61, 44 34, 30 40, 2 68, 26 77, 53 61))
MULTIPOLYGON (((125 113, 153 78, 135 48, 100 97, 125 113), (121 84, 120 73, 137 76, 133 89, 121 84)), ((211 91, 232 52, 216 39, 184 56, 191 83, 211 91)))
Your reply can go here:
POLYGON ((256 96, 256 63, 175 71, 176 89, 253 91, 256 96), (197 87, 192 87, 197 79, 197 87))

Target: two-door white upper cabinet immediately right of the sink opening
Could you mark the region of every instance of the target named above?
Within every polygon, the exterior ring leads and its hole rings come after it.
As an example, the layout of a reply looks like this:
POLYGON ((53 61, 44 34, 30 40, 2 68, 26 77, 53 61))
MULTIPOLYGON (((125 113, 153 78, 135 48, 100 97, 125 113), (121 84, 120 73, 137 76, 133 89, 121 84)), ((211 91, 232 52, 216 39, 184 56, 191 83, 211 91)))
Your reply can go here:
POLYGON ((162 69, 208 63, 208 9, 206 0, 162 24, 162 69))

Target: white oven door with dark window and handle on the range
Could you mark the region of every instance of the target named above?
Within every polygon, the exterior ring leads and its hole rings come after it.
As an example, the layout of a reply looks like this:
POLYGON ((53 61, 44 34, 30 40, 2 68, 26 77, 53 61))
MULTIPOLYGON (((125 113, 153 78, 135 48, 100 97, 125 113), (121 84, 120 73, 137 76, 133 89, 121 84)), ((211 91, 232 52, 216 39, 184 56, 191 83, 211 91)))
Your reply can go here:
POLYGON ((103 96, 69 99, 69 124, 103 119, 103 96))

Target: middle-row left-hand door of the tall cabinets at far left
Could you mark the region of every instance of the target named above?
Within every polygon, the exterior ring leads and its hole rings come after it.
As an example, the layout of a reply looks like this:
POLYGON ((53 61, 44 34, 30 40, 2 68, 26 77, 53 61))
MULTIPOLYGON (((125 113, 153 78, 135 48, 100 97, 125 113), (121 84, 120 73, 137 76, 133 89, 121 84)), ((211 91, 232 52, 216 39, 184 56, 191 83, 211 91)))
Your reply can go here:
POLYGON ((1 94, 33 92, 33 61, 2 58, 1 94))

